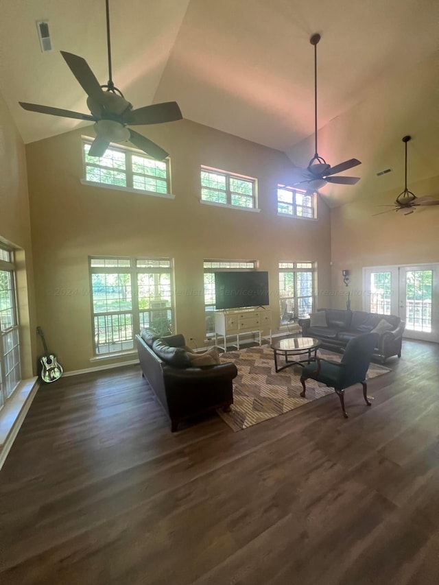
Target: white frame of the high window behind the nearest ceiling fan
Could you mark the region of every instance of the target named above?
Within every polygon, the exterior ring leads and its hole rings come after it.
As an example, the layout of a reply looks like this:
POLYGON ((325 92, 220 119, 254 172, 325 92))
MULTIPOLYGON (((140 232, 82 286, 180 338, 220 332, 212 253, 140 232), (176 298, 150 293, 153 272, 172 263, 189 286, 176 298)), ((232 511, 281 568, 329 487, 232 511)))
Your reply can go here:
POLYGON ((93 143, 93 139, 88 138, 87 136, 82 136, 81 140, 81 152, 82 152, 82 167, 84 169, 84 178, 81 180, 82 184, 86 185, 93 185, 94 187, 104 187, 104 189, 115 189, 117 191, 128 191, 130 193, 143 193, 145 195, 154 195, 155 197, 162 197, 166 199, 174 199, 175 195, 171 193, 171 163, 168 158, 165 160, 155 160, 151 156, 147 156, 145 152, 142 150, 138 150, 136 148, 131 148, 128 146, 121 146, 120 144, 110 143, 108 147, 110 150, 115 150, 117 152, 121 152, 125 156, 125 169, 116 169, 112 167, 106 167, 105 165, 99 164, 99 158, 96 158, 96 163, 89 163, 86 160, 86 154, 84 151, 85 145, 91 145, 93 143), (156 178, 153 175, 147 175, 142 173, 136 173, 132 170, 132 156, 139 156, 140 158, 144 158, 146 160, 153 160, 156 163, 161 163, 165 165, 166 169, 166 177, 160 178, 161 180, 166 182, 166 192, 162 193, 161 191, 155 191, 150 189, 141 189, 139 187, 134 187, 134 176, 144 176, 145 178, 156 178), (110 183, 105 183, 101 181, 93 181, 87 178, 87 167, 90 168, 97 168, 97 169, 106 169, 108 171, 118 171, 121 174, 126 176, 126 185, 115 185, 110 183))

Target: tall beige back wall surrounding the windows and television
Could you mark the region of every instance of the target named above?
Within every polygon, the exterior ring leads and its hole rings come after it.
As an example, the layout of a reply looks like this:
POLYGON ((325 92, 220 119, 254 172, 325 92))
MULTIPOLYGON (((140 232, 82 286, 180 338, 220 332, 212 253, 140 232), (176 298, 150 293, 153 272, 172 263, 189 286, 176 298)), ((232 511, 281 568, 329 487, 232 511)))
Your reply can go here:
MULTIPOLYGON (((283 153, 187 120, 142 130, 171 154, 175 200, 80 184, 81 135, 93 136, 91 127, 26 148, 38 319, 66 370, 91 367, 88 255, 173 258, 176 329, 198 346, 204 299, 186 291, 202 290, 203 259, 256 259, 272 291, 278 261, 316 261, 319 287, 330 284, 326 204, 318 203, 318 222, 276 215, 276 184, 291 167, 283 153), (257 177, 261 213, 200 204, 202 164, 257 177), (71 296, 57 294, 67 289, 71 296)), ((275 294, 271 307, 277 331, 275 294)))

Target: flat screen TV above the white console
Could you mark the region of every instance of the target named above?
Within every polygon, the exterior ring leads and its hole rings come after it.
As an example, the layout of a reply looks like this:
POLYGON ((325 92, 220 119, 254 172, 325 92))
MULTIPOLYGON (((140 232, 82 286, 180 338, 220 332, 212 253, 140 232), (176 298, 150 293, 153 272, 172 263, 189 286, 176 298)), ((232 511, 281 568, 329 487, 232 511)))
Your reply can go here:
POLYGON ((268 272, 215 272, 217 309, 269 305, 268 272))

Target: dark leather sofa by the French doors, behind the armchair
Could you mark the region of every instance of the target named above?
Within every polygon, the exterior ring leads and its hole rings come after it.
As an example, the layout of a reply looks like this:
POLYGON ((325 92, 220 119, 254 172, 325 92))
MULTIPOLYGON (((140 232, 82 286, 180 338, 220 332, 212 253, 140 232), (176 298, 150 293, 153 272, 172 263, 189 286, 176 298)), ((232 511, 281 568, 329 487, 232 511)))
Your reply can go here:
POLYGON ((373 358, 384 363, 393 355, 401 357, 401 346, 405 323, 396 315, 379 315, 366 311, 346 311, 341 309, 319 309, 326 315, 326 326, 311 326, 310 319, 299 319, 302 337, 320 339, 322 347, 329 350, 342 350, 350 339, 370 333, 381 320, 388 322, 391 328, 379 333, 373 358))

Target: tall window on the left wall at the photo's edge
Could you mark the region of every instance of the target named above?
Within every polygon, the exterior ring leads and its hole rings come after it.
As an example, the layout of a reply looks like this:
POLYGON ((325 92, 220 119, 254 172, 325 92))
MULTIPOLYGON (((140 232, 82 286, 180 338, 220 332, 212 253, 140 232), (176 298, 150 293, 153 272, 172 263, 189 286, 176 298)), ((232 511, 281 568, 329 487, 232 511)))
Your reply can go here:
POLYGON ((0 248, 0 407, 21 380, 14 254, 0 248))

